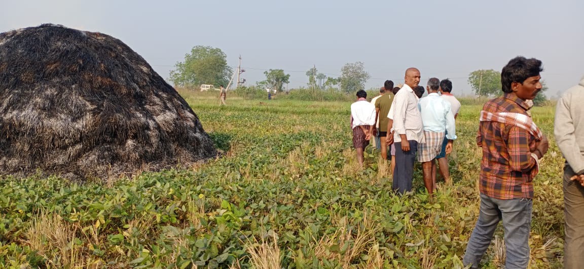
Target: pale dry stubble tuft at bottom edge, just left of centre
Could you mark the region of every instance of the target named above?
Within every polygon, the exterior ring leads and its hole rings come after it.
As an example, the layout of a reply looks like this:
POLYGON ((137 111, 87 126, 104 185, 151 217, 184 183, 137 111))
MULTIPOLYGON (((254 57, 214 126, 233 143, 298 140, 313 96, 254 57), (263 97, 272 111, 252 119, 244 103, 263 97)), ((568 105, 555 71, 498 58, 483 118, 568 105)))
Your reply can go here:
POLYGON ((245 244, 245 249, 249 253, 249 260, 253 268, 258 269, 279 269, 281 268, 281 253, 277 244, 276 233, 272 234, 272 242, 266 242, 262 238, 262 242, 258 242, 253 238, 254 242, 245 244))

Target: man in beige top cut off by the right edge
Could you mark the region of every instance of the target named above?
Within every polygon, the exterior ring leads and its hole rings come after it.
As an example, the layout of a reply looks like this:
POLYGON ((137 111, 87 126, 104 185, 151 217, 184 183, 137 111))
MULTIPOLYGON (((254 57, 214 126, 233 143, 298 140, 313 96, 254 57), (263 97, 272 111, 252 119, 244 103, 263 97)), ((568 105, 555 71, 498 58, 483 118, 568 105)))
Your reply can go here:
POLYGON ((564 165, 564 268, 584 268, 584 76, 555 107, 554 134, 564 165))

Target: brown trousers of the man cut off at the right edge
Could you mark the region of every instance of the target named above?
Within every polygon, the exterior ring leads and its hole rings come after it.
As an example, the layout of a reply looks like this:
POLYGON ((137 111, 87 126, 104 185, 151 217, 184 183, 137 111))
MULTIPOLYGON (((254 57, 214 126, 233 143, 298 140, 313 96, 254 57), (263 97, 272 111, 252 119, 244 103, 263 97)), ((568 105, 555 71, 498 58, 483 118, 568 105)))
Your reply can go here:
POLYGON ((584 268, 584 187, 564 167, 564 268, 584 268))

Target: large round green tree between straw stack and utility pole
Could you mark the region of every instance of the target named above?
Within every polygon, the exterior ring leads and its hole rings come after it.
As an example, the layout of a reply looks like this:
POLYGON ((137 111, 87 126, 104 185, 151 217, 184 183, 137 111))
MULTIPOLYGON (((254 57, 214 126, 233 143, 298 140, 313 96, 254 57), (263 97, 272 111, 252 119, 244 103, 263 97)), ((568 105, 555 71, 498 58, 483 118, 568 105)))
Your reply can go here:
POLYGON ((219 48, 195 46, 184 62, 177 62, 170 79, 176 86, 213 84, 227 86, 233 70, 227 65, 227 55, 219 48))

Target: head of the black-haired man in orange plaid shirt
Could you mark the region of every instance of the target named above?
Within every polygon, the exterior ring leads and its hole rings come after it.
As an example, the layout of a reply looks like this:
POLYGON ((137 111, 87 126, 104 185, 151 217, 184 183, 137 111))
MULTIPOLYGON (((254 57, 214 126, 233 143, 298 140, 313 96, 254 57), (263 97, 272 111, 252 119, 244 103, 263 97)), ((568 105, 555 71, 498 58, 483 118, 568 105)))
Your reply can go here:
POLYGON ((541 90, 541 61, 517 56, 501 71, 501 87, 505 93, 515 93, 523 100, 533 99, 541 90))

